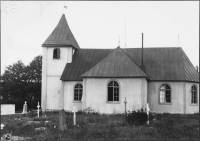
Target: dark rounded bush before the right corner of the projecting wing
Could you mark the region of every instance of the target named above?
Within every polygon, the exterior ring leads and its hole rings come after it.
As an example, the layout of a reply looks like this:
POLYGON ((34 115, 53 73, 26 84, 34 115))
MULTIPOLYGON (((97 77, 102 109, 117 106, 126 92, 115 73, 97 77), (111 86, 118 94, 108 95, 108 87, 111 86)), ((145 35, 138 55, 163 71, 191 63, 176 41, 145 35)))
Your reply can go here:
POLYGON ((147 113, 141 108, 137 111, 128 112, 125 120, 130 125, 143 125, 147 122, 148 116, 147 113))

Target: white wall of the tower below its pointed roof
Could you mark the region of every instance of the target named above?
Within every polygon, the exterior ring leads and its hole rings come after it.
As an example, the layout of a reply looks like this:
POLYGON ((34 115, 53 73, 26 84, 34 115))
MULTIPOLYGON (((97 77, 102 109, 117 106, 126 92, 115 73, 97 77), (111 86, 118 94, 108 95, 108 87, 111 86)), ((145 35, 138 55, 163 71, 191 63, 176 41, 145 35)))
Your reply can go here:
POLYGON ((66 63, 72 62, 73 50, 71 47, 60 47, 60 59, 53 59, 54 49, 54 47, 43 47, 41 96, 42 110, 60 108, 59 104, 56 104, 56 101, 58 100, 54 98, 57 98, 58 95, 60 95, 62 87, 60 77, 66 63))

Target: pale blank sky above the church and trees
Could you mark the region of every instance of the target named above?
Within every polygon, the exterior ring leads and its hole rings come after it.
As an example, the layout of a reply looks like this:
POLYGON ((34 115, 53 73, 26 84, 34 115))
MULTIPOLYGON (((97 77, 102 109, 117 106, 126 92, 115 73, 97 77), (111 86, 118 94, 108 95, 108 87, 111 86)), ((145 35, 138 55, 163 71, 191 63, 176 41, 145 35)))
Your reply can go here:
POLYGON ((138 48, 143 33, 144 48, 182 47, 199 66, 199 1, 1 1, 1 74, 42 55, 63 13, 81 48, 138 48))

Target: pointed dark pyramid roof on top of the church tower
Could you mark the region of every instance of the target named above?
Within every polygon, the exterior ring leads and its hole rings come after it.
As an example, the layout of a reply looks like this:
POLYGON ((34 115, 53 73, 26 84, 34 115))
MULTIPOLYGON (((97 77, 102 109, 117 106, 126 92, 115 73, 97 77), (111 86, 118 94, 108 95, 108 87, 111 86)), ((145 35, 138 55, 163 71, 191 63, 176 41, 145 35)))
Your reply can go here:
POLYGON ((63 14, 58 25, 49 35, 42 47, 74 47, 80 48, 72 34, 65 15, 63 14))

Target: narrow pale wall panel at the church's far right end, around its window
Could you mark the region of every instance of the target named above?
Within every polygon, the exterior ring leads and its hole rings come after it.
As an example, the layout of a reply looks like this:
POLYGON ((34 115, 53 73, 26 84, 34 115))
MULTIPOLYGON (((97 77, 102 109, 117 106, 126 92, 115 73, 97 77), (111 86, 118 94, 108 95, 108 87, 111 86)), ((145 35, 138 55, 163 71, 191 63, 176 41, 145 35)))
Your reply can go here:
POLYGON ((199 113, 199 84, 198 83, 186 83, 186 113, 199 113), (197 86, 197 104, 191 104, 191 87, 197 86))

